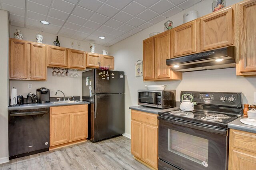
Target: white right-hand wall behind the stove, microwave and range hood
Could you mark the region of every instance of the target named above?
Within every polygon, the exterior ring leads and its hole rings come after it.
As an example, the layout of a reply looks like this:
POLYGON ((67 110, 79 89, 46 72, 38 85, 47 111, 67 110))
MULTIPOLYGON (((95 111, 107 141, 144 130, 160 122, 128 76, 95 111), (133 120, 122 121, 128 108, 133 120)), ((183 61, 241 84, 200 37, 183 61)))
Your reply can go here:
MULTIPOLYGON (((240 0, 226 0, 227 6, 240 0)), ((199 17, 209 14, 212 0, 204 0, 187 10, 184 10, 166 20, 130 36, 121 42, 110 46, 111 55, 115 56, 117 70, 123 70, 126 75, 125 83, 125 133, 130 134, 130 106, 137 105, 137 90, 145 89, 144 85, 164 85, 166 89, 176 89, 176 100, 180 91, 226 91, 244 93, 243 103, 253 103, 253 93, 256 91, 256 77, 236 76, 236 69, 218 69, 183 73, 182 81, 143 82, 143 77, 135 77, 135 62, 143 59, 142 41, 149 38, 151 32, 163 32, 164 22, 171 20, 174 27, 183 24, 183 14, 197 10, 199 17)))

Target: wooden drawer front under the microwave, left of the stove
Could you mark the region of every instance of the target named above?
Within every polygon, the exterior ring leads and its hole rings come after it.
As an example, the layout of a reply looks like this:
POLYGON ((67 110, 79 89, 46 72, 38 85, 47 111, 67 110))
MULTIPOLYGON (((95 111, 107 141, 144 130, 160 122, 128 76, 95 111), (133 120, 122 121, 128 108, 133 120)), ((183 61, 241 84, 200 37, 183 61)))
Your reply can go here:
POLYGON ((144 123, 148 123, 151 125, 158 125, 158 120, 157 120, 158 115, 152 114, 152 113, 145 113, 141 111, 135 111, 132 110, 132 119, 144 123))

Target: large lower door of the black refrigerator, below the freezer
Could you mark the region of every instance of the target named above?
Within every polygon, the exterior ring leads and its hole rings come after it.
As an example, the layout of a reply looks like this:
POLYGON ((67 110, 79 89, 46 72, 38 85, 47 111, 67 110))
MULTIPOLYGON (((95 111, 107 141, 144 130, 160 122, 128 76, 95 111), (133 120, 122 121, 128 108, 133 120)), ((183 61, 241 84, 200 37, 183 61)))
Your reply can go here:
POLYGON ((92 142, 124 133, 124 94, 95 95, 92 142))

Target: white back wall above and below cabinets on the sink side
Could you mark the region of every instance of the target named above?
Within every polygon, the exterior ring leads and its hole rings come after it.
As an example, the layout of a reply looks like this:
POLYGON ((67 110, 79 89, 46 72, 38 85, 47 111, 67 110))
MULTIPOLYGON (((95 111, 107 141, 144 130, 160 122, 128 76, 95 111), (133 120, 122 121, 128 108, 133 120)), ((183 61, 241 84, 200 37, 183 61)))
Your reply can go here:
MULTIPOLYGON (((36 42, 36 34, 40 33, 43 36, 43 43, 53 45, 53 41, 56 40, 56 35, 41 32, 40 30, 31 30, 28 28, 21 28, 17 26, 10 26, 10 38, 13 38, 16 29, 21 30, 23 40, 36 42)), ((71 38, 58 36, 61 47, 71 47, 71 41, 74 42, 73 49, 78 49, 77 42, 80 42, 80 50, 90 51, 89 42, 82 42, 71 38)), ((109 47, 103 45, 95 45, 95 53, 102 53, 102 49, 109 50, 109 47)), ((46 87, 51 90, 50 97, 59 97, 62 94, 58 93, 55 96, 54 91, 61 90, 66 96, 82 96, 82 71, 78 71, 78 79, 72 79, 69 77, 52 77, 52 69, 47 69, 47 81, 24 81, 24 80, 10 80, 10 89, 16 87, 17 94, 27 96, 29 92, 36 93, 36 89, 40 87, 46 87), (28 89, 28 83, 32 83, 32 89, 28 89)))

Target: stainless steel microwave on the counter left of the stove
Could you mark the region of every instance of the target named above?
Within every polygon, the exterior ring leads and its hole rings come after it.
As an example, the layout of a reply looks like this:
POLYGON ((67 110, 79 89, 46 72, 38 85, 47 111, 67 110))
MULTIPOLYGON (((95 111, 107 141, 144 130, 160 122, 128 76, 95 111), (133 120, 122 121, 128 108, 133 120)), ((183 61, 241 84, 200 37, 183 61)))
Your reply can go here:
POLYGON ((176 107, 176 90, 138 90, 138 105, 160 109, 176 107))

